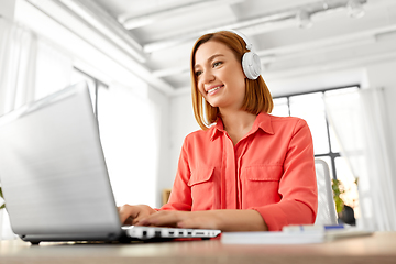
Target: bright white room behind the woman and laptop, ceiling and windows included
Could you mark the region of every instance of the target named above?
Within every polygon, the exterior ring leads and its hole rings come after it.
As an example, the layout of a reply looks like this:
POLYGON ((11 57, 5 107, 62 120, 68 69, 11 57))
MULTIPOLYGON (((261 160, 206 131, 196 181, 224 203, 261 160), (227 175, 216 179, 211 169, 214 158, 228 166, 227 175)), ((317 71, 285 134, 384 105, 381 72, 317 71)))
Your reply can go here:
POLYGON ((117 204, 160 207, 199 129, 191 47, 228 29, 260 55, 273 114, 307 120, 358 224, 396 230, 395 0, 0 0, 0 114, 88 81, 117 204))

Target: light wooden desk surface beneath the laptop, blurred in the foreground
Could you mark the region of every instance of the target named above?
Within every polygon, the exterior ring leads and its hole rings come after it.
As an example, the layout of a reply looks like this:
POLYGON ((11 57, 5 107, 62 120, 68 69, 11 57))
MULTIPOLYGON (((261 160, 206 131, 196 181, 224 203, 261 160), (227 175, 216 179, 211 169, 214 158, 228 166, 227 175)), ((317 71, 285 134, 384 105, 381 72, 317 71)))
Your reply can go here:
POLYGON ((396 232, 320 244, 237 245, 220 240, 134 244, 31 245, 0 242, 0 263, 396 263, 396 232))

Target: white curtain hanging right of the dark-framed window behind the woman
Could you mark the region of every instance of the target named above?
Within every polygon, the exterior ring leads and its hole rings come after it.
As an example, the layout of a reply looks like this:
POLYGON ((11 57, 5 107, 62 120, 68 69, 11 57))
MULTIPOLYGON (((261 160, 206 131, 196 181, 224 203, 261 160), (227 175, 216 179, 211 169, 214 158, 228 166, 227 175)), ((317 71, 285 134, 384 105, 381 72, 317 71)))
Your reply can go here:
POLYGON ((324 98, 329 122, 359 178, 362 228, 396 231, 395 150, 386 90, 360 89, 324 98))

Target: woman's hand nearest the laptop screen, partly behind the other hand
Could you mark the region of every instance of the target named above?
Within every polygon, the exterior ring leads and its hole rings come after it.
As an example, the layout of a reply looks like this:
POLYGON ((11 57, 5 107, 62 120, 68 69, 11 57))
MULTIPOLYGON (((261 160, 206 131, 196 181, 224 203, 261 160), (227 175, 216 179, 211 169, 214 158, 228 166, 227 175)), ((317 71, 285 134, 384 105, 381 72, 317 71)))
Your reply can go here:
POLYGON ((156 210, 146 205, 123 205, 122 207, 118 207, 118 211, 121 223, 124 224, 139 224, 141 219, 147 218, 150 215, 156 212, 156 210))

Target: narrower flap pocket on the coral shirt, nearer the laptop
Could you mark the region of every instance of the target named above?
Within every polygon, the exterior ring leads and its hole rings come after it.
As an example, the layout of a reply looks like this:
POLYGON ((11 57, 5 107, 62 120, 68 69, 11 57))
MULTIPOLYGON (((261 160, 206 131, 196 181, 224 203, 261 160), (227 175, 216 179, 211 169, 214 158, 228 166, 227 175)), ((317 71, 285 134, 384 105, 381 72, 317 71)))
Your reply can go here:
POLYGON ((199 166, 191 172, 187 185, 191 189, 193 211, 210 210, 215 204, 215 167, 199 166))

